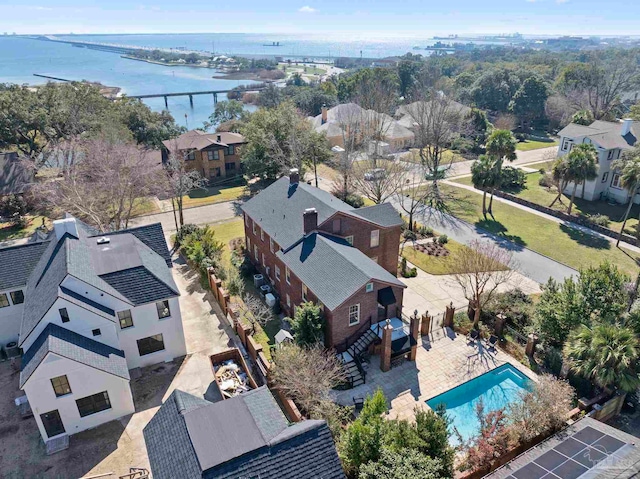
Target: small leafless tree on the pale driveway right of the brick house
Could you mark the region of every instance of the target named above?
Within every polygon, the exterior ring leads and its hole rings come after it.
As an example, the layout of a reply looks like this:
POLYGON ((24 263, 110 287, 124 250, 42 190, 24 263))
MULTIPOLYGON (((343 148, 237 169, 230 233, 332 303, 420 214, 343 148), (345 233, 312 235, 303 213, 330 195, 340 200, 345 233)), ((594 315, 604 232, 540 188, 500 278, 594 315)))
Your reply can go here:
POLYGON ((513 253, 491 241, 474 240, 451 258, 451 274, 475 308, 473 326, 478 327, 482 308, 498 288, 515 273, 513 253))

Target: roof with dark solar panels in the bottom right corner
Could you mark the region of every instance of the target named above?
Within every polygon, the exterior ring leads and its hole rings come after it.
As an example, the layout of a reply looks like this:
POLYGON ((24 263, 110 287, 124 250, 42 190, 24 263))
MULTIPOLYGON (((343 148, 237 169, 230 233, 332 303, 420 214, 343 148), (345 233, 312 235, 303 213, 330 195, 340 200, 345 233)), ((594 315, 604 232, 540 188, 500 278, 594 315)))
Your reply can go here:
POLYGON ((486 476, 630 479, 640 473, 638 438, 583 417, 486 476))

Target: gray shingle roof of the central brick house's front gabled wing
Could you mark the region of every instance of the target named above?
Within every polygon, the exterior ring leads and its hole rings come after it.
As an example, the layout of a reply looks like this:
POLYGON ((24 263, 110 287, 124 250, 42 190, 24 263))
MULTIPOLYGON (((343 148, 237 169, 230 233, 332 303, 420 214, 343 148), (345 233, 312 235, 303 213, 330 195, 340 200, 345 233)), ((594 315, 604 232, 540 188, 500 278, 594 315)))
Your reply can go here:
POLYGON ((329 310, 371 280, 404 287, 398 278, 345 240, 312 233, 278 257, 329 310))

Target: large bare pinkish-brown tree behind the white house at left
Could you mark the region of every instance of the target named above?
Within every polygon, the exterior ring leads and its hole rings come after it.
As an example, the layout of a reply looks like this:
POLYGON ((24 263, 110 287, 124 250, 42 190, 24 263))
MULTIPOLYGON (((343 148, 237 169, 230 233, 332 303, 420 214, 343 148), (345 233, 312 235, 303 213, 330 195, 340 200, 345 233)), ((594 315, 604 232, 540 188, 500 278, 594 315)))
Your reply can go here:
POLYGON ((79 151, 62 178, 42 184, 39 198, 100 231, 128 227, 136 204, 162 177, 159 156, 108 135, 83 141, 79 151))

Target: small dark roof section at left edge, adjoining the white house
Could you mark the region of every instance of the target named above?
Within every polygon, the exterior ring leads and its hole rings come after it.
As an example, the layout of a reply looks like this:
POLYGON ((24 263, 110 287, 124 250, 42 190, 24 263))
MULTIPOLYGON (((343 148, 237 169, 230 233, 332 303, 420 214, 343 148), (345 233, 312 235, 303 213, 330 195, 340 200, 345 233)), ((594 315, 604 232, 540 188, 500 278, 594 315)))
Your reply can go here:
POLYGON ((25 286, 48 241, 0 249, 0 291, 25 286))

